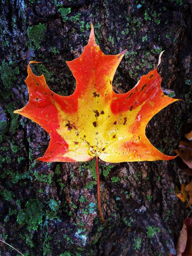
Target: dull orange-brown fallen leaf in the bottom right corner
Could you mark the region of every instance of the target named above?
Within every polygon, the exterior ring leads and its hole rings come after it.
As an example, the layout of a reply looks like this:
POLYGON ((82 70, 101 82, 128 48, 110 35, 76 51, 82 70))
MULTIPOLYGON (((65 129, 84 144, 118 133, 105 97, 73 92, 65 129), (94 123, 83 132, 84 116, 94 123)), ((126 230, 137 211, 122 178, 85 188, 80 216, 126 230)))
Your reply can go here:
POLYGON ((176 251, 177 256, 192 256, 192 218, 184 220, 176 251))

